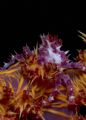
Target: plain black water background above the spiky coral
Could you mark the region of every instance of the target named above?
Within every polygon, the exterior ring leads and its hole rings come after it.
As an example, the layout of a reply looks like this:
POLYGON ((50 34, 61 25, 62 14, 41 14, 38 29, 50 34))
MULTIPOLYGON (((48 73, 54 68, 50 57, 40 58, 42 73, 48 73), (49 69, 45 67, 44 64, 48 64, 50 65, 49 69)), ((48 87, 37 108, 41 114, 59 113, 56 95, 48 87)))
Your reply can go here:
POLYGON ((58 35, 63 49, 70 50, 72 57, 77 54, 76 49, 86 48, 78 37, 78 30, 86 33, 85 3, 30 0, 7 1, 3 5, 6 9, 1 9, 0 14, 0 65, 14 51, 21 53, 26 43, 33 49, 37 42, 41 43, 39 36, 43 33, 58 35))

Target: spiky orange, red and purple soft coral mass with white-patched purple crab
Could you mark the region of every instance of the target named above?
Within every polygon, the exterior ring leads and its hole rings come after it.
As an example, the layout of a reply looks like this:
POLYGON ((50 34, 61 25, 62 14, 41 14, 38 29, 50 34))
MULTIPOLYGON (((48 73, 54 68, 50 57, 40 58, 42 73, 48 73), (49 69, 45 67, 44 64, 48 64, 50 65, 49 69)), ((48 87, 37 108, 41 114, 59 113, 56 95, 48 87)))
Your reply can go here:
POLYGON ((85 120, 78 112, 86 106, 86 50, 71 61, 57 36, 41 40, 0 68, 0 120, 85 120))

